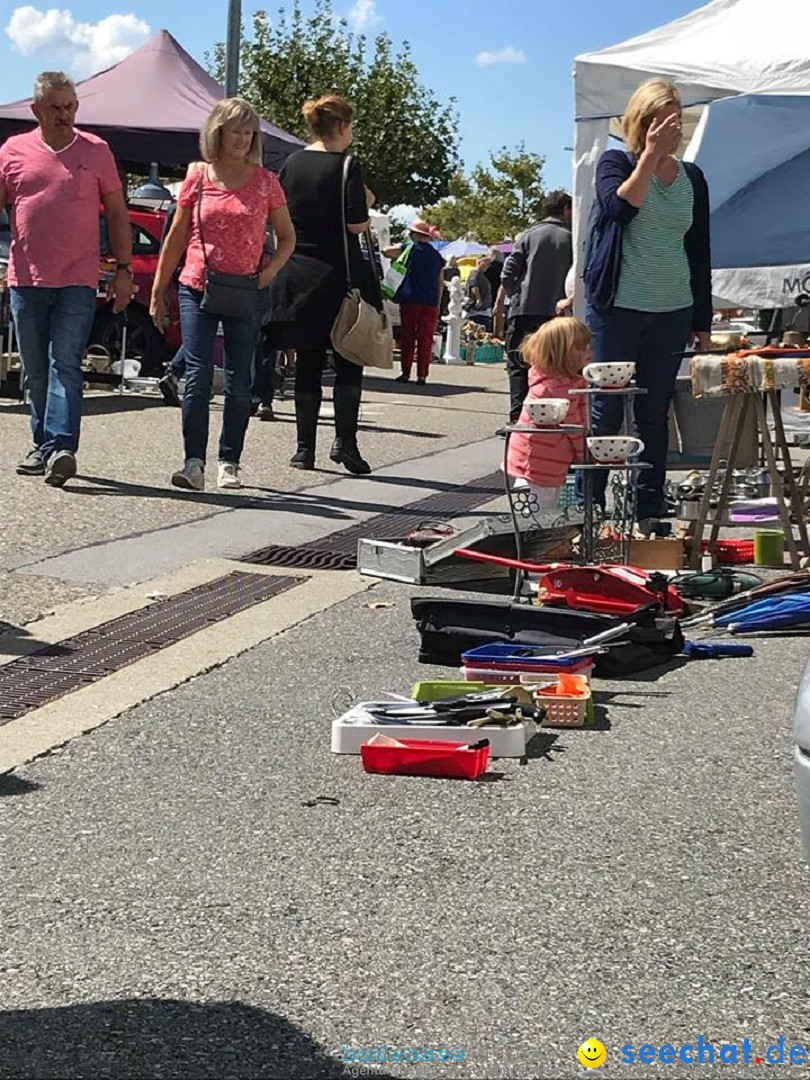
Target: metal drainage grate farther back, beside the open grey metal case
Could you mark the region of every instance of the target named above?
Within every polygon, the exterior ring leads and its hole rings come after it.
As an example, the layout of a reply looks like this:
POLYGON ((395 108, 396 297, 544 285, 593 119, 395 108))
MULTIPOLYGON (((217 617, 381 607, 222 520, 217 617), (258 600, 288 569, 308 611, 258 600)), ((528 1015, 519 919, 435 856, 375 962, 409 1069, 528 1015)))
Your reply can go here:
POLYGON ((408 502, 387 514, 377 514, 357 525, 351 525, 339 532, 333 532, 322 540, 302 544, 300 548, 285 548, 271 544, 249 555, 243 555, 240 563, 255 563, 260 566, 288 566, 311 570, 353 570, 357 565, 359 540, 399 540, 424 521, 444 519, 465 510, 473 510, 485 502, 491 502, 503 494, 503 473, 489 473, 481 480, 471 481, 455 491, 438 491, 417 502, 408 502))

